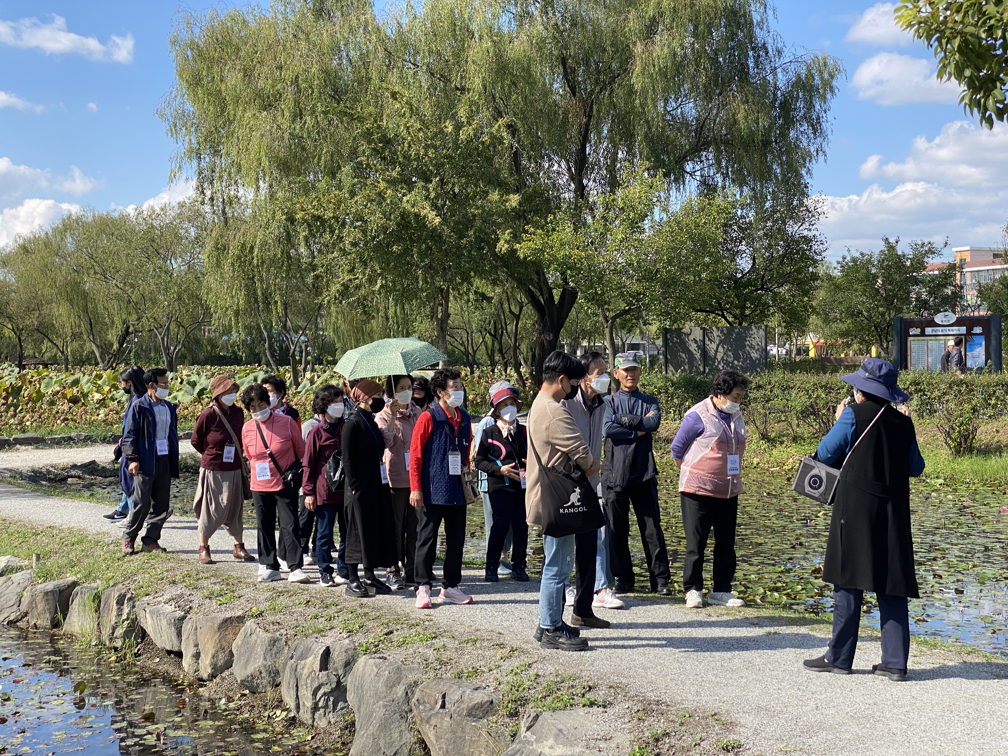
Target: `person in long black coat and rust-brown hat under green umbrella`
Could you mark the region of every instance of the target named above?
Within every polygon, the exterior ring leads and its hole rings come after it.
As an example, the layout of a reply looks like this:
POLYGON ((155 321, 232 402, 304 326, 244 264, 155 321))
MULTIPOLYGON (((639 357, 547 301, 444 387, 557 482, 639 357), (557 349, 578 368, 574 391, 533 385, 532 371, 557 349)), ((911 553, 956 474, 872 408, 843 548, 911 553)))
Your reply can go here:
POLYGON ((343 469, 346 474, 344 507, 347 516, 347 550, 350 573, 347 595, 365 597, 368 589, 390 594, 392 589, 375 578, 375 568, 387 568, 397 558, 395 517, 388 477, 383 470, 385 442, 374 414, 385 406, 376 381, 358 381, 350 391, 357 407, 343 423, 343 469), (364 568, 360 578, 357 565, 364 568))

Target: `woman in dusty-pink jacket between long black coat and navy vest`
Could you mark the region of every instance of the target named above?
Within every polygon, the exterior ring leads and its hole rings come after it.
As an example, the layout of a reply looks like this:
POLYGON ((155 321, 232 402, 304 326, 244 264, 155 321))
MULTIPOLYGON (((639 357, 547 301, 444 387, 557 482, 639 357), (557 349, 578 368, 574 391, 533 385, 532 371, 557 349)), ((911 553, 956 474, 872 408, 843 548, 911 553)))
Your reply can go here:
POLYGON ((409 444, 422 411, 413 401, 411 376, 385 378, 385 407, 375 415, 375 423, 385 436, 385 471, 395 517, 397 561, 389 566, 385 578, 394 591, 416 588, 416 510, 409 505, 409 444))

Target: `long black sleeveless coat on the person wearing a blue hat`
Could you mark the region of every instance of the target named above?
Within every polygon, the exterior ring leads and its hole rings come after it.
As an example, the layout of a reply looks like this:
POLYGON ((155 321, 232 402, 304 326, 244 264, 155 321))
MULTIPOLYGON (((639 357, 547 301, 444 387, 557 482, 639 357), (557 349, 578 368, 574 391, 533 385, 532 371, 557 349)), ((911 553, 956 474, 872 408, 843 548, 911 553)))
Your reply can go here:
POLYGON ((913 422, 888 404, 854 404, 854 437, 878 422, 840 474, 823 580, 890 596, 919 597, 910 533, 913 422))

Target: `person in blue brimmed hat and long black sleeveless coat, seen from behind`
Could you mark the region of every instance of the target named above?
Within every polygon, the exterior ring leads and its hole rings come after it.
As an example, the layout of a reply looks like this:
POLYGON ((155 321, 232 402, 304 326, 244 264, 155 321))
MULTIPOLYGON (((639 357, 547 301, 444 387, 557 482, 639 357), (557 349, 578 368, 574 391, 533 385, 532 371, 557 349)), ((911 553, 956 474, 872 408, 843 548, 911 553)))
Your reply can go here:
POLYGON ((909 397, 896 386, 899 372, 870 357, 842 378, 855 402, 837 407, 837 423, 816 457, 842 463, 830 522, 823 580, 833 583, 833 638, 827 652, 804 662, 820 672, 850 674, 865 591, 878 599, 882 663, 875 674, 906 679, 910 626, 907 599, 919 597, 910 532, 910 478, 924 471, 909 397), (890 402, 899 405, 894 408, 890 402))

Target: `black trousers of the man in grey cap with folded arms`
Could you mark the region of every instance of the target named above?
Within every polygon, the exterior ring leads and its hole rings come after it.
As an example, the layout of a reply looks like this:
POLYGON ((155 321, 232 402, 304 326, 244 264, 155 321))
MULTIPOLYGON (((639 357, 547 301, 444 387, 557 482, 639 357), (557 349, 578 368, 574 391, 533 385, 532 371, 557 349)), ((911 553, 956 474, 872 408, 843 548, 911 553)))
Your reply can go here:
MULTIPOLYGON (((627 486, 622 491, 606 487, 606 522, 612 551, 609 563, 613 577, 620 584, 634 584, 633 562, 630 558, 630 510, 637 517, 637 529, 644 546, 644 558, 650 573, 651 590, 659 583, 668 583, 668 550, 661 531, 658 510, 658 481, 652 478, 627 486)), ((593 531, 598 536, 597 531, 593 531)))

